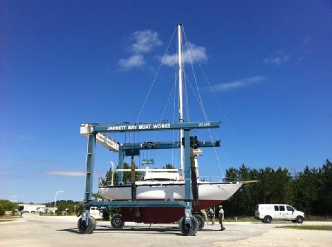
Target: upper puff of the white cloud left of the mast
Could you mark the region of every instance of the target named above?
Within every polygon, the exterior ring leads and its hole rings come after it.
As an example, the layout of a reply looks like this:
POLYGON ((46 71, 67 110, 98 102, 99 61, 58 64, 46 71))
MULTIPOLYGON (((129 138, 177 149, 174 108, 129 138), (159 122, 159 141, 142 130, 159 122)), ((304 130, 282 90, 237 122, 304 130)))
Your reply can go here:
POLYGON ((158 32, 152 30, 136 31, 132 34, 132 39, 134 42, 129 48, 134 53, 146 53, 162 44, 158 32))

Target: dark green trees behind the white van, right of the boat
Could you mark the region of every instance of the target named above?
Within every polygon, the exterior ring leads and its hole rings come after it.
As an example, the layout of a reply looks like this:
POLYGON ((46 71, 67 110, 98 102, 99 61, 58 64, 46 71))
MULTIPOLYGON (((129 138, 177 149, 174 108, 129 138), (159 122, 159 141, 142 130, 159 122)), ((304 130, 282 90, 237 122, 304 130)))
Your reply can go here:
POLYGON ((255 215, 257 204, 291 204, 306 215, 332 215, 332 163, 329 159, 318 168, 304 168, 291 175, 287 168, 252 169, 244 164, 226 170, 230 180, 258 180, 242 186, 223 202, 228 216, 255 215))

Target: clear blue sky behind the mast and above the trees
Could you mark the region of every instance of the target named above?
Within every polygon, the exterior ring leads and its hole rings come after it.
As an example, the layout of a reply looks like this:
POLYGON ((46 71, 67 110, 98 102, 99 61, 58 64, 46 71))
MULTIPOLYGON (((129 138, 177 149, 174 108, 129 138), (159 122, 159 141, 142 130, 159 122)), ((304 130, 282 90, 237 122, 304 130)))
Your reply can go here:
MULTIPOLYGON (((331 159, 331 10, 331 1, 1 1, 0 198, 53 201, 64 190, 59 199, 82 200, 80 124, 137 121, 177 23, 196 58, 208 119, 221 121, 222 169, 205 150, 202 176, 243 163, 291 172, 321 166, 331 159)), ((173 121, 175 54, 173 39, 139 121, 158 121, 164 109, 163 119, 173 121)), ((186 59, 189 120, 204 121, 186 59)), ((97 151, 95 183, 117 161, 97 151)), ((143 157, 160 167, 176 153, 143 157)))

